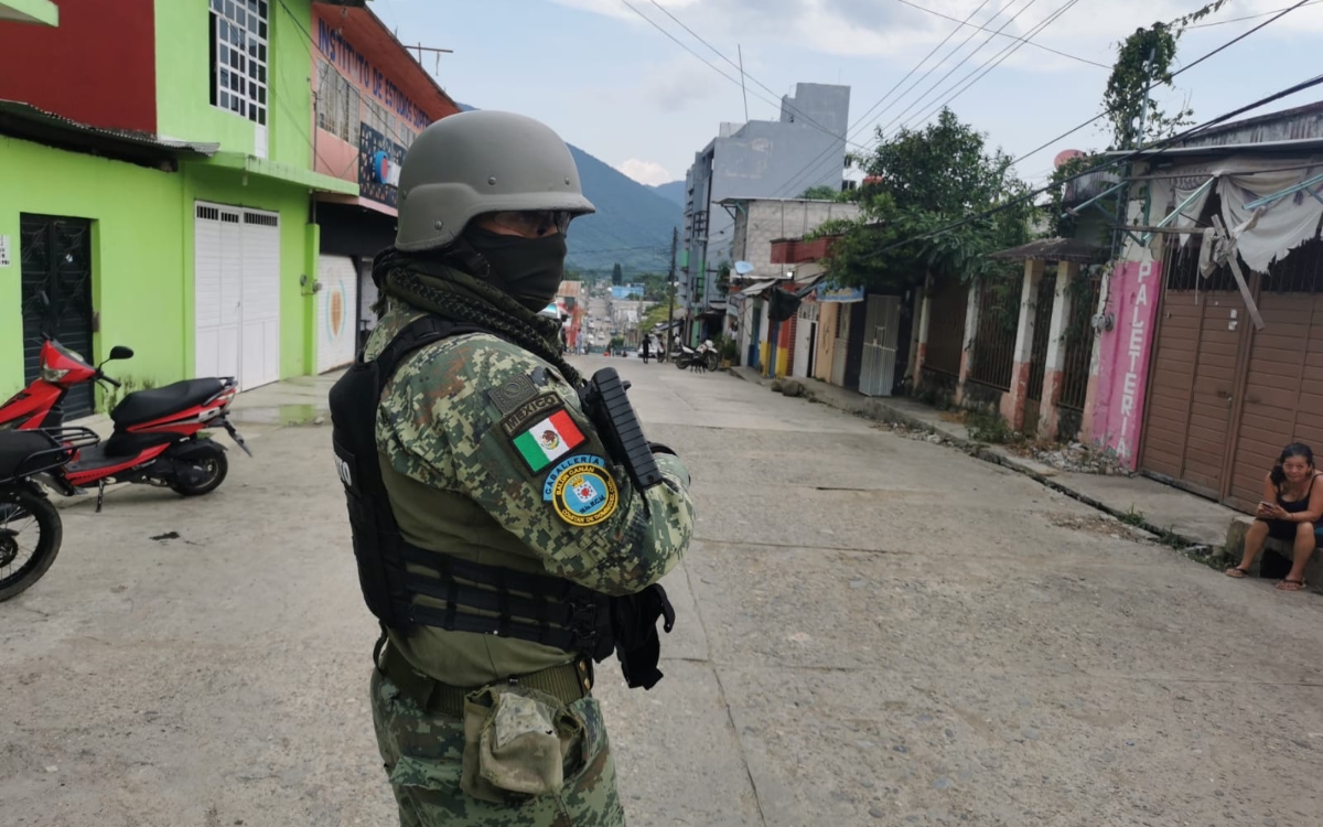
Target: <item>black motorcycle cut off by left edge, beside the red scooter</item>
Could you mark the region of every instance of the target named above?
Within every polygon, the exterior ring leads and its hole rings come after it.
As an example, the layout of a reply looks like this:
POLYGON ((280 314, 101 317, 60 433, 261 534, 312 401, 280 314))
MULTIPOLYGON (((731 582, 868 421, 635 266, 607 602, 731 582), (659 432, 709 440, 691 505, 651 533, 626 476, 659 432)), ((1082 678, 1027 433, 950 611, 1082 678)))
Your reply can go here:
POLYGON ((97 442, 86 427, 0 431, 0 601, 37 582, 60 553, 60 512, 37 479, 97 442))

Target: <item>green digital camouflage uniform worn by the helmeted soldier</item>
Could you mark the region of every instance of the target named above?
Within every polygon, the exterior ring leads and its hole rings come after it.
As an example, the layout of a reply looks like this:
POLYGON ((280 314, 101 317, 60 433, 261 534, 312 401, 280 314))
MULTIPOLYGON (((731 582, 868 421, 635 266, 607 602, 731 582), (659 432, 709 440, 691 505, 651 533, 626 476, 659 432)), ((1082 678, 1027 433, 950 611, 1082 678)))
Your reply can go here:
MULTIPOLYGON (((366 356, 380 353, 419 315, 392 299, 366 356)), ((679 562, 692 532, 688 472, 676 457, 656 457, 667 480, 647 491, 648 519, 643 495, 607 458, 574 388, 548 363, 486 333, 427 345, 401 363, 382 393, 377 446, 405 539, 462 560, 553 574, 607 594, 631 594, 679 562), (557 516, 544 491, 546 468, 533 470, 520 455, 503 427, 508 412, 488 396, 512 381, 534 388, 541 404, 569 414, 583 438, 573 454, 606 458, 618 504, 602 521, 581 527, 557 516)), ((443 605, 427 597, 414 599, 443 605)), ((392 631, 390 646, 422 675, 456 687, 499 684, 512 675, 574 659, 570 652, 533 642, 430 626, 407 636, 392 631)), ((624 823, 602 713, 591 696, 569 707, 582 721, 583 734, 565 758, 561 793, 512 799, 511 805, 488 803, 460 790, 464 728, 459 718, 419 709, 376 671, 372 708, 405 827, 624 823)))

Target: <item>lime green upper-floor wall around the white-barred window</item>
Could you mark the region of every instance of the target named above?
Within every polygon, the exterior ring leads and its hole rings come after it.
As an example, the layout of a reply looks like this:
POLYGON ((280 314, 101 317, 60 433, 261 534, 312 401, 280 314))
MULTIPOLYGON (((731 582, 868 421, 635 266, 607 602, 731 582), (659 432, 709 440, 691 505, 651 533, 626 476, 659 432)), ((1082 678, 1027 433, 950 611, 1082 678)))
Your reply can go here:
MULTIPOLYGON (((270 0, 267 157, 312 168, 311 0, 270 0)), ((156 130, 253 155, 254 123, 210 103, 208 0, 156 0, 156 130)))

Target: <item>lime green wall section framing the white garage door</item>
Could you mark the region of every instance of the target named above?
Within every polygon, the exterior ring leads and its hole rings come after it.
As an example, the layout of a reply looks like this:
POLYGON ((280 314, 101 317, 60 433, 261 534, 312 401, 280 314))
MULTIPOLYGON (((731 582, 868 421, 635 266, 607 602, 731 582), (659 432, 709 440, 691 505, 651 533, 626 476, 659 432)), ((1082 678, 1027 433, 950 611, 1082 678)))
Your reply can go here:
MULTIPOLYGON (((280 213, 280 378, 312 373, 316 353, 308 351, 306 339, 315 339, 307 327, 307 306, 314 299, 304 296, 299 284, 307 261, 307 192, 257 176, 249 176, 245 184, 242 176, 233 171, 213 169, 205 164, 185 164, 184 181, 184 212, 189 216, 183 228, 184 318, 188 329, 193 328, 193 202, 213 201, 280 213)), ((192 370, 192 333, 188 336, 185 364, 192 370)))

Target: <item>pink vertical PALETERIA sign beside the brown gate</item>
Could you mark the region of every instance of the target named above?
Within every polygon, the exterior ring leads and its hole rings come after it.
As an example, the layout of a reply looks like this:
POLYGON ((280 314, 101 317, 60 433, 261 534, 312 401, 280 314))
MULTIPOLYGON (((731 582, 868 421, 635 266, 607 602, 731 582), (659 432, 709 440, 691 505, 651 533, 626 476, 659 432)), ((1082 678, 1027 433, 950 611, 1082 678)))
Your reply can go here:
POLYGON ((1111 279, 1113 300, 1105 312, 1115 312, 1115 329, 1102 335, 1098 348, 1098 404, 1093 433, 1125 464, 1139 460, 1139 426, 1148 385, 1162 265, 1152 261, 1123 262, 1111 279))

